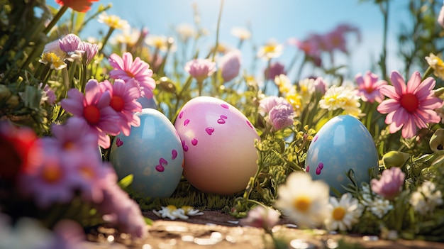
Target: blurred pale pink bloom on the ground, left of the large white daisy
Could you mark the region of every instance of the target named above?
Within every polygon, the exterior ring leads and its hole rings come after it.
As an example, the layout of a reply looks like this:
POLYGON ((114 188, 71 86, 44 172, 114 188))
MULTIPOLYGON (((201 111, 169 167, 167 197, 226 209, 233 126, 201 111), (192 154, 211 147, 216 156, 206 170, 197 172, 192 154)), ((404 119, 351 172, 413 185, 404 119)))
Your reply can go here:
POLYGON ((279 212, 274 209, 256 206, 248 212, 246 218, 240 220, 240 225, 270 230, 279 221, 279 216, 279 212))

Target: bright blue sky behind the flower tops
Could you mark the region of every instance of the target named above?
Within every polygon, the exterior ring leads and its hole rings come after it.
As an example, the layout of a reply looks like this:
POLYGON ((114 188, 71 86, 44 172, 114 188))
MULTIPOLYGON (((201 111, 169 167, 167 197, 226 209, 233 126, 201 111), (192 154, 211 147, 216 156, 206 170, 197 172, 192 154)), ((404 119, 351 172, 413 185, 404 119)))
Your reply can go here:
MULTIPOLYGON (((48 0, 48 2, 53 0, 48 0)), ((209 30, 205 41, 210 46, 216 37, 216 23, 221 1, 219 0, 101 0, 93 4, 113 4, 107 11, 127 20, 133 28, 148 27, 153 35, 172 35, 170 27, 180 23, 193 23, 195 3, 201 16, 201 25, 209 30)), ((396 68, 396 34, 401 23, 409 24, 408 1, 391 1, 389 23, 389 70, 396 68)), ((220 40, 235 47, 238 40, 231 35, 231 28, 250 25, 252 40, 243 48, 245 63, 251 60, 251 45, 262 45, 270 38, 284 43, 288 38, 306 38, 309 33, 326 33, 340 23, 349 23, 360 28, 361 43, 350 36, 350 58, 343 57, 349 65, 349 76, 370 70, 382 49, 382 13, 373 1, 360 0, 225 0, 221 18, 220 40), (248 47, 250 46, 250 47, 248 47), (248 48, 248 49, 247 49, 248 48)), ((106 31, 102 23, 91 22, 87 30, 94 34, 106 31)), ((205 45, 204 45, 205 48, 205 45)), ((287 63, 296 53, 295 48, 286 48, 277 59, 287 63)), ((259 67, 265 65, 259 65, 259 67)), ((309 73, 309 72, 307 72, 309 73)))

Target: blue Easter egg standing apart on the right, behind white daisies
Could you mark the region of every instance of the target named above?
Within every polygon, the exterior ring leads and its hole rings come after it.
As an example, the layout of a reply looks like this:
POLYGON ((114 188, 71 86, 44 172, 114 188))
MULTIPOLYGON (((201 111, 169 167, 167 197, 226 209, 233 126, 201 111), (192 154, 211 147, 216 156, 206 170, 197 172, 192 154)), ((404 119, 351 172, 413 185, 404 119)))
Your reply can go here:
POLYGON ((374 170, 375 174, 378 170, 372 135, 353 116, 331 118, 311 141, 305 168, 313 179, 322 179, 340 193, 345 193, 341 185, 351 183, 346 175, 349 170, 353 170, 358 185, 369 182, 369 170, 374 170))

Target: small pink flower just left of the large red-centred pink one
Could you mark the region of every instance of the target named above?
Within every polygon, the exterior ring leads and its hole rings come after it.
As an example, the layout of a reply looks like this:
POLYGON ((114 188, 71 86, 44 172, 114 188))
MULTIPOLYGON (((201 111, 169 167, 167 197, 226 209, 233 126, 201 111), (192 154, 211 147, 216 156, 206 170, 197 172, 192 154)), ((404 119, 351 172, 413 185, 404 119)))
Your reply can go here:
POLYGON ((356 74, 355 81, 357 82, 358 94, 363 101, 369 101, 373 103, 377 101, 381 103, 384 99, 384 95, 379 91, 382 86, 386 85, 385 80, 378 80, 377 74, 370 71, 366 72, 364 76, 362 74, 356 74))

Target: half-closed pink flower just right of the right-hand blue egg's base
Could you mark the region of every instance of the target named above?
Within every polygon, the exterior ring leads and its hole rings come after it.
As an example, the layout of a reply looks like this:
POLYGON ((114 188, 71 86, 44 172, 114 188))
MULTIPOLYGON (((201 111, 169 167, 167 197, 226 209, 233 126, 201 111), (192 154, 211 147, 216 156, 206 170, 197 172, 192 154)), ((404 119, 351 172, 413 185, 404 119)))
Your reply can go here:
POLYGON ((381 178, 372 179, 372 191, 381 195, 385 199, 393 199, 402 190, 406 175, 399 167, 391 167, 382 172, 381 178))

